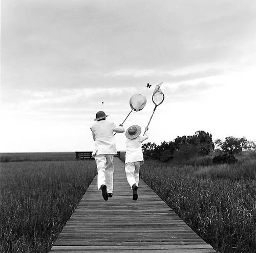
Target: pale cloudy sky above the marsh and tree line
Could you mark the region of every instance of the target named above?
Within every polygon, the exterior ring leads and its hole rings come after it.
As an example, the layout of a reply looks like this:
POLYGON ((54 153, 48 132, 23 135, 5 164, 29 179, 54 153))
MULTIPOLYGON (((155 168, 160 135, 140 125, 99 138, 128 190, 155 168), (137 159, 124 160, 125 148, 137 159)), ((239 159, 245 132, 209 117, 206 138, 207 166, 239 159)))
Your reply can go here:
POLYGON ((160 82, 147 141, 256 141, 255 11, 253 0, 2 0, 0 152, 93 150, 96 112, 118 125, 134 94, 147 103, 124 128, 143 131, 160 82))

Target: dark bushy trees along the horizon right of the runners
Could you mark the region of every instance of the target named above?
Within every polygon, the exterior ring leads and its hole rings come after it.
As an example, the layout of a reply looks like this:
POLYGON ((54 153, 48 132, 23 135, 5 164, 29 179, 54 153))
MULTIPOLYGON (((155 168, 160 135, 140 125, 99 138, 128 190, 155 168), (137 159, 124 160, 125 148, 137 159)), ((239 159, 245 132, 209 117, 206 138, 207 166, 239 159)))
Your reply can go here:
POLYGON ((186 160, 192 157, 207 156, 216 150, 215 147, 221 154, 219 158, 214 159, 214 163, 218 163, 218 161, 221 163, 222 160, 230 163, 236 162, 234 155, 239 154, 242 150, 256 151, 256 143, 245 137, 230 136, 226 137, 224 141, 217 139, 214 142, 212 135, 205 131, 197 131, 191 136, 178 136, 174 141, 163 141, 160 145, 148 142, 142 145, 142 150, 145 159, 165 162, 173 158, 186 160))

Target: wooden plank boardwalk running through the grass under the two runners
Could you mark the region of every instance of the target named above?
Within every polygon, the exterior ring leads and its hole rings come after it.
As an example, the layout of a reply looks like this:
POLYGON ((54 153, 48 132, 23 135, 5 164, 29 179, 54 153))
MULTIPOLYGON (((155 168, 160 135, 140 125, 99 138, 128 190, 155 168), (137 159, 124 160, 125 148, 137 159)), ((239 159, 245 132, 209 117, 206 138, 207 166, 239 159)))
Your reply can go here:
POLYGON ((103 200, 96 177, 51 253, 216 252, 143 181, 132 200, 123 162, 114 158, 114 166, 114 196, 103 200))

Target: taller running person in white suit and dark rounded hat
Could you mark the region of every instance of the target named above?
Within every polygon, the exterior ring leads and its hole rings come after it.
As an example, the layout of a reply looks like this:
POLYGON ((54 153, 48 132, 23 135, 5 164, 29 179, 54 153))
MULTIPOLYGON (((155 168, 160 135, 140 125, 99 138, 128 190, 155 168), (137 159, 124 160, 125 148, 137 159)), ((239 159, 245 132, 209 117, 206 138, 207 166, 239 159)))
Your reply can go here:
POLYGON ((122 125, 116 126, 114 122, 106 120, 103 111, 96 113, 96 122, 91 126, 95 148, 92 156, 97 165, 98 190, 102 190, 102 197, 108 200, 113 195, 113 157, 117 154, 113 132, 124 133, 122 125))

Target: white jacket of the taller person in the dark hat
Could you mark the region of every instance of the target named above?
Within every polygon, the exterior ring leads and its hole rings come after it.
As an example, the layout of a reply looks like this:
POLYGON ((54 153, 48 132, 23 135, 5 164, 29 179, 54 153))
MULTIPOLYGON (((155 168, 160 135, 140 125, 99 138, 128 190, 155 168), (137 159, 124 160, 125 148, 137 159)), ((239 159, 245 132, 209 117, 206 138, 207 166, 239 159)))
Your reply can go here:
POLYGON ((96 121, 92 126, 92 135, 95 140, 94 151, 98 155, 116 155, 116 143, 113 132, 123 133, 123 127, 117 127, 114 122, 108 120, 96 121))

